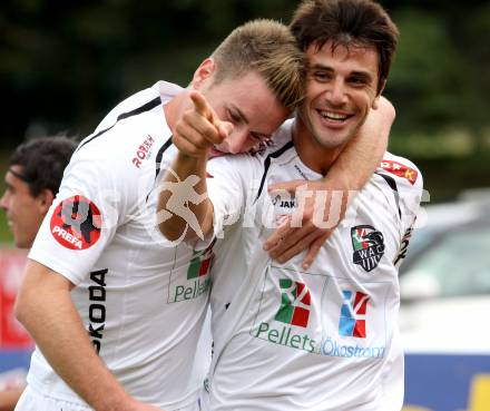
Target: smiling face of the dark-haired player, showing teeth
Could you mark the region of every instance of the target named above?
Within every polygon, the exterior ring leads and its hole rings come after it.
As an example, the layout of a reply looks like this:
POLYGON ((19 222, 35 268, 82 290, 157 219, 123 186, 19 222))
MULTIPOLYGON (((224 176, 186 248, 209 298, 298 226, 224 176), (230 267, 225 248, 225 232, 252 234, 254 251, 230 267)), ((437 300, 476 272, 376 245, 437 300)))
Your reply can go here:
POLYGON ((378 51, 373 46, 306 50, 310 68, 298 133, 324 148, 342 147, 359 130, 379 98, 378 51))

